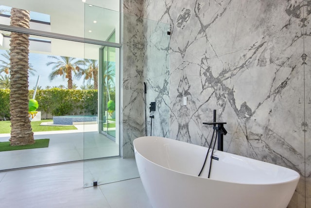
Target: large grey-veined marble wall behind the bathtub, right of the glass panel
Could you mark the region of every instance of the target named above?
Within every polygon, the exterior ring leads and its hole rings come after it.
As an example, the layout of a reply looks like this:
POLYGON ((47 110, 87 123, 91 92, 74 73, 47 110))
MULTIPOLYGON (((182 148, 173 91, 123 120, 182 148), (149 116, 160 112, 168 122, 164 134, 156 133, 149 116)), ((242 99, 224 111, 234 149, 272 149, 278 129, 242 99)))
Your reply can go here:
POLYGON ((207 146, 202 123, 216 109, 227 122, 225 151, 301 174, 290 208, 311 207, 310 6, 145 0, 140 13, 171 25, 170 137, 207 146))

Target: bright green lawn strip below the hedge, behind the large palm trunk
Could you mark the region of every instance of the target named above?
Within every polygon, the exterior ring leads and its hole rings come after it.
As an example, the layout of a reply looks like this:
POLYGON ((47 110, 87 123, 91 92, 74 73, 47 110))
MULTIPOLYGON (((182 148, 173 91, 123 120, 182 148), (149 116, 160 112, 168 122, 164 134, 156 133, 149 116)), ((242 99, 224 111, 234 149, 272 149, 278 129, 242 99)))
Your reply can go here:
MULTIPOLYGON (((76 130, 75 126, 40 126, 42 122, 49 122, 51 120, 32 121, 31 126, 33 132, 49 132, 49 131, 62 131, 62 130, 76 130)), ((0 133, 11 132, 10 121, 0 121, 0 133)))

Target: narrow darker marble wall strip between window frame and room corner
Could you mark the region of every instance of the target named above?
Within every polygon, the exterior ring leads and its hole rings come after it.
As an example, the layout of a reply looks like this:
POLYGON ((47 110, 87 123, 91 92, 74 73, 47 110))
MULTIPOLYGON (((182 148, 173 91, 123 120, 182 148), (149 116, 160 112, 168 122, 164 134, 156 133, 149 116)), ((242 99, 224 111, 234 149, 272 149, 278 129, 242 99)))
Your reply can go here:
POLYGON ((133 140, 145 133, 141 18, 124 14, 122 72, 122 154, 133 157, 133 140))

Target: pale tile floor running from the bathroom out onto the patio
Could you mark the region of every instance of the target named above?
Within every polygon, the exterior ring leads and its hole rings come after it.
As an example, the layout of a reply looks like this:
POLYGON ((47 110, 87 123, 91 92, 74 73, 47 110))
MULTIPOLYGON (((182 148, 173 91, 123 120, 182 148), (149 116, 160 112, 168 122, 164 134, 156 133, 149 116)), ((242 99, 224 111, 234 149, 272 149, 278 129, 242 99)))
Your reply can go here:
MULTIPOLYGON (((78 130, 35 132, 35 139, 50 138, 49 148, 0 152, 0 170, 119 155, 119 145, 98 134, 97 125, 77 127, 78 130)), ((8 141, 9 136, 0 134, 0 141, 8 141)), ((0 208, 151 208, 151 205, 135 159, 111 158, 2 171, 0 208), (92 187, 93 181, 104 185, 92 187)))

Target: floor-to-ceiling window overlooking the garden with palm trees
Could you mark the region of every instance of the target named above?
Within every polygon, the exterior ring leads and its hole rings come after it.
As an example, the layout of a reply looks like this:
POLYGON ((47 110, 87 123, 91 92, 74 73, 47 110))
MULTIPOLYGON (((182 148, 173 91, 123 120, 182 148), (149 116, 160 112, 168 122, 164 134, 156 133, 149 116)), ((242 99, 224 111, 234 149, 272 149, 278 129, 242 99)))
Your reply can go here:
MULTIPOLYGON (((29 90, 34 92, 40 76, 35 99, 41 118, 36 122, 43 123, 38 124, 39 130, 33 131, 35 139, 49 138, 50 143, 46 148, 0 151, 1 158, 7 158, 0 163, 0 170, 119 156, 120 3, 103 0, 1 3, 0 59, 9 62, 5 58, 12 31, 30 35, 29 62, 33 70, 29 74, 29 90), (12 7, 31 11, 30 29, 10 26, 12 7), (104 50, 105 57, 101 56, 104 50), (59 63, 73 66, 71 84, 59 63), (102 95, 108 98, 105 109, 99 104, 102 95), (56 124, 54 117, 61 117, 57 121, 60 123, 56 124)), ((9 81, 6 72, 1 77, 9 81)), ((10 122, 9 113, 2 117, 6 123, 10 122)), ((0 130, 4 130, 2 125, 0 130)), ((10 132, 0 132, 0 138, 8 141, 10 132)))

